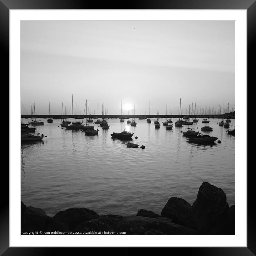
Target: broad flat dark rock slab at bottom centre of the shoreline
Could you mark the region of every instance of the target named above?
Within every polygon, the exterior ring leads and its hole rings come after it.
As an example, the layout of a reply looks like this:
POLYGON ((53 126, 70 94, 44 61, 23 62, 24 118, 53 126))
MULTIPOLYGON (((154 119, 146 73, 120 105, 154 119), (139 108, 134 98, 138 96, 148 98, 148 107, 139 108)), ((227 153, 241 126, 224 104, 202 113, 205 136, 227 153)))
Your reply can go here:
MULTIPOLYGON (((99 216, 74 229, 74 231, 126 232, 125 235, 198 235, 197 231, 173 223, 170 219, 148 218, 142 216, 108 217, 99 216)), ((103 234, 104 235, 104 234, 103 234)), ((109 235, 118 235, 109 233, 109 235)))

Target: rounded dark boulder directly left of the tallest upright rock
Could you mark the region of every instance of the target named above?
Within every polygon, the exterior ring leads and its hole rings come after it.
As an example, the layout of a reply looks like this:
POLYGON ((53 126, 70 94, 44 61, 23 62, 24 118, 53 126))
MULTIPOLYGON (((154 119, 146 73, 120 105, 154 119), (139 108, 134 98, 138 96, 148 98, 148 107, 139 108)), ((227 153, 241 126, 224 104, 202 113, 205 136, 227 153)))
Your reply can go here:
POLYGON ((192 215, 192 206, 179 197, 171 197, 164 206, 161 217, 171 219, 174 223, 197 230, 196 221, 192 215))

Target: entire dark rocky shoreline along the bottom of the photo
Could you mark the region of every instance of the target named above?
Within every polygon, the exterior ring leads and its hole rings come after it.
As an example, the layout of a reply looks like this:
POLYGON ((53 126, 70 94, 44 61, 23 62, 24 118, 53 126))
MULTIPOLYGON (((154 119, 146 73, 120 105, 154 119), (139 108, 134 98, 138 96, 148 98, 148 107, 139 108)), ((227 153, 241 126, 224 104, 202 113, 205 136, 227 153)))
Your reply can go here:
POLYGON ((118 232, 235 235, 235 205, 229 207, 223 190, 208 182, 202 183, 192 206, 182 198, 171 197, 160 215, 141 209, 136 216, 100 216, 87 208, 69 208, 49 217, 42 209, 26 207, 21 201, 21 235, 29 232, 36 235, 67 235, 67 232, 69 235, 119 235, 118 232))

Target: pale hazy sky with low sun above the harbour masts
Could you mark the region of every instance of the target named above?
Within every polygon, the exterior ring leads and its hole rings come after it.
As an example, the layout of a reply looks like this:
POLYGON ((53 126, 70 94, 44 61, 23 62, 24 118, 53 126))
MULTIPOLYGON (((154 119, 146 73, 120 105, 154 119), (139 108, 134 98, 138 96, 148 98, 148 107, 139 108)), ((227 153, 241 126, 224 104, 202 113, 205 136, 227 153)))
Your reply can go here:
POLYGON ((21 21, 20 71, 21 114, 71 114, 72 94, 78 114, 231 110, 235 21, 21 21))

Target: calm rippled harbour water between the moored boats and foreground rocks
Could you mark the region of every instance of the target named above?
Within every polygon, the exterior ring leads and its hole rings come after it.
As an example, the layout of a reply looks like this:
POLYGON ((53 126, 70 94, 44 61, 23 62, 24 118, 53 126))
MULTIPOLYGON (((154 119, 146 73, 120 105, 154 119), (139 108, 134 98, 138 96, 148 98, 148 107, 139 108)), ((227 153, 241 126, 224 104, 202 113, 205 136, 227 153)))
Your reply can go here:
POLYGON ((41 120, 44 125, 37 129, 47 135, 43 142, 21 144, 21 200, 49 216, 70 207, 99 215, 136 215, 140 209, 160 214, 172 196, 192 204, 204 181, 222 188, 228 204, 235 204, 235 137, 218 125, 221 119, 197 123, 199 130, 213 128, 202 132, 221 140, 212 145, 187 142, 181 131, 192 125, 175 127, 176 119, 173 130, 162 125, 165 119, 159 119, 160 129, 154 128, 154 119, 151 124, 137 119, 137 127, 126 119, 108 119, 108 130, 93 124, 98 136, 61 129, 60 120, 41 120), (134 133, 132 142, 146 148, 127 148, 126 142, 111 138, 124 129, 134 133))

